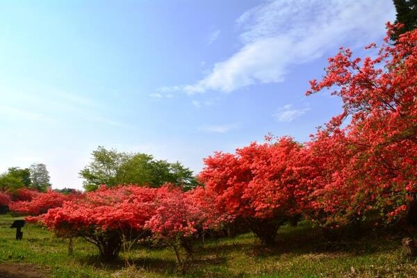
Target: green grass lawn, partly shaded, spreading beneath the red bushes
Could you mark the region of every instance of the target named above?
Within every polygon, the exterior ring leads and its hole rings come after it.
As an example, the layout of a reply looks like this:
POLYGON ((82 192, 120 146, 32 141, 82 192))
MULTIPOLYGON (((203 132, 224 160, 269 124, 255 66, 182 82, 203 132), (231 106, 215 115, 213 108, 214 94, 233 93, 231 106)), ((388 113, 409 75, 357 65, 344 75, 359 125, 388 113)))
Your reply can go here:
MULTIPOLYGON (((100 263, 94 245, 76 239, 69 256, 68 240, 35 224, 26 224, 23 240, 15 240, 15 229, 10 229, 15 219, 0 215, 0 276, 2 269, 13 278, 24 278, 15 272, 27 269, 35 275, 28 277, 180 276, 170 249, 133 247, 131 267, 123 252, 120 261, 100 263)), ((261 247, 252 234, 211 239, 195 254, 186 277, 417 277, 417 260, 403 254, 403 236, 400 231, 368 231, 360 240, 329 243, 320 229, 304 222, 283 227, 275 247, 261 247)))

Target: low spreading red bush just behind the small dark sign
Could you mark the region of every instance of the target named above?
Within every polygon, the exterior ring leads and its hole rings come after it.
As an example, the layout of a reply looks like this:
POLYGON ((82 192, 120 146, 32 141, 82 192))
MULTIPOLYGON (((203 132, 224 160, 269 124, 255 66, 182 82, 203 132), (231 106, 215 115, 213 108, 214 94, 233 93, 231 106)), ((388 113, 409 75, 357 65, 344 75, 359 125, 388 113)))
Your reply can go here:
POLYGON ((26 215, 41 215, 47 213, 50 208, 63 206, 65 201, 70 201, 74 198, 76 198, 76 195, 63 195, 62 193, 48 190, 46 193, 32 195, 30 201, 10 202, 9 208, 10 211, 26 215))

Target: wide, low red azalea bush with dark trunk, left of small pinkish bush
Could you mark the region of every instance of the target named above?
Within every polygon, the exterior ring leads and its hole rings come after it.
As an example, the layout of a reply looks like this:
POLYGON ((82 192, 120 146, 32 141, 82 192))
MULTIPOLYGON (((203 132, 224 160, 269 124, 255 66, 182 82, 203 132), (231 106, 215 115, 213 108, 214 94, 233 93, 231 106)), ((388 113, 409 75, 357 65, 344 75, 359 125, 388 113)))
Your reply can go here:
POLYGON ((85 193, 50 209, 38 220, 58 236, 81 236, 99 248, 104 261, 117 258, 124 235, 144 237, 145 222, 155 211, 156 190, 138 186, 117 186, 85 193))

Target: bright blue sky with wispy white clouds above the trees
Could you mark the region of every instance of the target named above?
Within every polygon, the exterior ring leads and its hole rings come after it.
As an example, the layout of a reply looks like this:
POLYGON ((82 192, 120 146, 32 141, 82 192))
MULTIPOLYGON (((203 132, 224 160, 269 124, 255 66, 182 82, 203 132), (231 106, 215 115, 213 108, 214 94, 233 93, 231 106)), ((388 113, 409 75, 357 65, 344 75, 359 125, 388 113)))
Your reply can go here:
POLYGON ((382 0, 0 1, 0 172, 82 188, 97 147, 180 161, 267 133, 305 142, 341 100, 305 96, 341 46, 380 42, 382 0))

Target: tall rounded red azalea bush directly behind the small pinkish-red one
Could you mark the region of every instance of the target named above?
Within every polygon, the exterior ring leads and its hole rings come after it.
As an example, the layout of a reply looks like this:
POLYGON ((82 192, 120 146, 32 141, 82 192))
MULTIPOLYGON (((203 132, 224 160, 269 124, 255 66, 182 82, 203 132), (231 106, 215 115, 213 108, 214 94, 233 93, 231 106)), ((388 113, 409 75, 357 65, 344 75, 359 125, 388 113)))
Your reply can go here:
POLYGON ((243 219, 263 243, 273 243, 281 224, 309 206, 310 167, 304 148, 292 138, 252 143, 236 154, 204 159, 199 179, 216 194, 220 211, 243 219))

